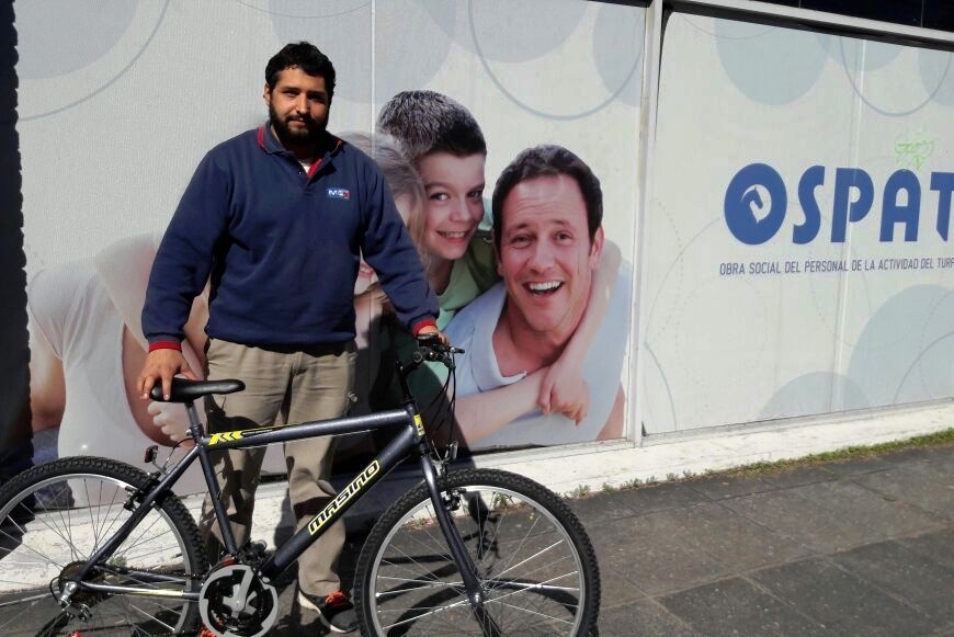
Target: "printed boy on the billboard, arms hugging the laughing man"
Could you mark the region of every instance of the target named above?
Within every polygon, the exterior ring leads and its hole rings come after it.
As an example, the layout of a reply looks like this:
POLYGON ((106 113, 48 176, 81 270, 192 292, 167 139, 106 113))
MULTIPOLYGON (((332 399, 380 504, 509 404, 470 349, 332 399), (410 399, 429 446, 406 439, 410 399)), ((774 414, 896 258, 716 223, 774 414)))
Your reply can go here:
MULTIPOLYGON (((394 95, 378 114, 377 130, 398 141, 423 182, 425 203, 419 249, 428 282, 441 306, 438 327, 444 329, 457 312, 500 282, 491 241, 491 203, 484 197, 487 141, 466 106, 429 90, 394 95)), ((546 365, 537 366, 525 378, 457 400, 454 417, 461 431, 496 431, 536 408, 582 423, 590 406, 583 362, 609 310, 622 260, 615 242, 604 240, 601 246, 590 285, 591 303, 583 303, 572 338, 546 365)), ((395 328, 387 315, 381 325, 379 368, 393 369, 395 361, 410 356, 416 341, 399 326, 395 328)), ((414 396, 431 406, 429 422, 445 422, 443 401, 438 398, 443 396, 446 375, 446 368, 438 364, 409 379, 414 396)), ((371 402, 391 408, 400 405, 400 396, 396 379, 391 377, 388 383, 384 376, 372 389, 371 402)), ((616 433, 622 430, 617 428, 616 433)))

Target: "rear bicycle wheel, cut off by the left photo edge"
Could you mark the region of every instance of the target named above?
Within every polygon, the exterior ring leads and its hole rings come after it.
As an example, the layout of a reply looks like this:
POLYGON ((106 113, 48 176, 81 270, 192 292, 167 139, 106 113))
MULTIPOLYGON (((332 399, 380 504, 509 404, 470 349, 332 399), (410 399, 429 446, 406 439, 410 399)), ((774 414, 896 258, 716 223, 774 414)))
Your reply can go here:
MULTIPOLYGON (((69 612, 56 598, 64 579, 132 515, 124 507, 128 490, 147 479, 140 469, 117 460, 77 456, 33 467, 0 488, 0 634, 55 636, 78 630, 146 636, 197 630, 195 602, 80 591, 69 612)), ((189 510, 168 492, 91 579, 198 591, 200 579, 183 573, 207 570, 202 546, 189 510)))

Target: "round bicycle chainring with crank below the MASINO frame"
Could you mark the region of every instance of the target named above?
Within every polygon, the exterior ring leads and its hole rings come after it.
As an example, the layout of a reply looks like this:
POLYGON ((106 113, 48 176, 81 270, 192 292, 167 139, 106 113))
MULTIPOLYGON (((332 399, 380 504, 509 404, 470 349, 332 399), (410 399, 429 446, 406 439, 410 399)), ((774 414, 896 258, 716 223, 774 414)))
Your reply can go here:
POLYGON ((198 593, 202 622, 219 637, 260 637, 279 614, 279 594, 248 565, 232 564, 209 573, 198 593))

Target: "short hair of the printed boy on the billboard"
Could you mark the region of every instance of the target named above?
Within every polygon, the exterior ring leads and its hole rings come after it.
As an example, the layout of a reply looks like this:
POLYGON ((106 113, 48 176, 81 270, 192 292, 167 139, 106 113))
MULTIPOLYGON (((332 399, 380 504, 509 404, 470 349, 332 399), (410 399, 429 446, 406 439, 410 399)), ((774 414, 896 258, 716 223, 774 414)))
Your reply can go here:
POLYGON ((487 155, 484 133, 470 111, 435 91, 402 91, 377 116, 377 129, 397 139, 417 164, 433 152, 487 155))

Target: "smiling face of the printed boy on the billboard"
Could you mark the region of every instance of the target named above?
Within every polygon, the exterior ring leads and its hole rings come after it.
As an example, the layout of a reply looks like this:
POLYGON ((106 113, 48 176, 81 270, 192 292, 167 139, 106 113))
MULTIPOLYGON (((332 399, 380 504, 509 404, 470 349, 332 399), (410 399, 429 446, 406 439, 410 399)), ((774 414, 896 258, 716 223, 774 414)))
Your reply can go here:
POLYGON ((424 250, 454 261, 464 255, 484 217, 482 152, 457 157, 432 152, 418 160, 424 182, 424 250))

